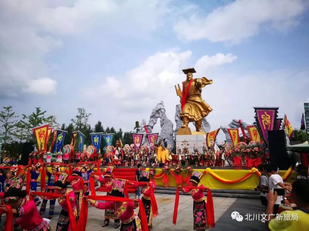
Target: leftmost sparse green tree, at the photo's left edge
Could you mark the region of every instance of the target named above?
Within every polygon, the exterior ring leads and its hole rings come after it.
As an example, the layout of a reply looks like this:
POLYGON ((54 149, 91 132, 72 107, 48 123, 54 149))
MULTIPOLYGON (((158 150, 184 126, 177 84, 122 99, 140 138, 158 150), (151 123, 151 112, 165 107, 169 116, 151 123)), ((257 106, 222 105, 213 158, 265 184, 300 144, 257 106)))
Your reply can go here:
POLYGON ((3 107, 3 111, 0 112, 0 122, 2 123, 0 128, 3 130, 2 139, 4 141, 3 151, 5 151, 6 143, 12 140, 12 132, 15 128, 16 120, 14 118, 18 117, 12 110, 12 106, 3 107))

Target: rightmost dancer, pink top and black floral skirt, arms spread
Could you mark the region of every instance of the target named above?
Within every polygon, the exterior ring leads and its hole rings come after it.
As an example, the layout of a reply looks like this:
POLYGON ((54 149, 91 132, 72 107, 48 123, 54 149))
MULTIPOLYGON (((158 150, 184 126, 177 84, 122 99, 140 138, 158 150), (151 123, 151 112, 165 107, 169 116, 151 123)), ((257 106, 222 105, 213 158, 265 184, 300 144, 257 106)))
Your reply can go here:
POLYGON ((183 193, 190 192, 190 195, 193 198, 193 229, 201 231, 211 228, 211 226, 207 224, 207 198, 204 195, 204 192, 207 192, 208 188, 204 188, 204 186, 200 184, 202 176, 202 172, 193 171, 190 178, 190 182, 193 187, 202 187, 202 189, 190 190, 188 188, 181 188, 181 186, 179 186, 183 193))

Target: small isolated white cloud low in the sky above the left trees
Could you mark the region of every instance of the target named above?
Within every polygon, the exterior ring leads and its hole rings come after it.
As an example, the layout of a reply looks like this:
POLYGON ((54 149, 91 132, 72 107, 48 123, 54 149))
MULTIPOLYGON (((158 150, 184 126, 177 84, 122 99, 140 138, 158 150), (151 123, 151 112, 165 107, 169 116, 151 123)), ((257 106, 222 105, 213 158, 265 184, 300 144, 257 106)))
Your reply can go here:
POLYGON ((23 87, 23 92, 39 95, 53 95, 56 93, 57 82, 50 78, 30 79, 23 87))

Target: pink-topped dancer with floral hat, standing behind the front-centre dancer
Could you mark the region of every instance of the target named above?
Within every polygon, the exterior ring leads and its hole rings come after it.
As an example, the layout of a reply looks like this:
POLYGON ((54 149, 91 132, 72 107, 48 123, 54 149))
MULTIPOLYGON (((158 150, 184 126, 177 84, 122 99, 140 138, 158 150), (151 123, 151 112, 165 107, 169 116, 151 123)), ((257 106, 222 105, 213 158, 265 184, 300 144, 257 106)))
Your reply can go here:
MULTIPOLYGON (((105 172, 104 172, 104 178, 99 178, 97 177, 97 180, 99 180, 101 183, 105 184, 106 189, 107 189, 107 196, 111 196, 112 195, 112 184, 113 184, 113 170, 114 167, 110 166, 108 168, 106 168, 105 172)), ((104 214, 104 224, 102 225, 102 227, 108 226, 109 225, 109 220, 112 219, 114 220, 114 228, 117 229, 120 226, 120 220, 119 218, 116 217, 115 215, 115 210, 114 209, 105 209, 105 214, 104 214)))

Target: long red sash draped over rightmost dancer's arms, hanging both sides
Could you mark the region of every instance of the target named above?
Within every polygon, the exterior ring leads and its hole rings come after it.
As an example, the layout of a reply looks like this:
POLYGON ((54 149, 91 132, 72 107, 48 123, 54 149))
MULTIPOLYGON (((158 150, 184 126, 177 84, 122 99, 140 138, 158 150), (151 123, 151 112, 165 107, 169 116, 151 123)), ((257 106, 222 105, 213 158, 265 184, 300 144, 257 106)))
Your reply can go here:
MULTIPOLYGON (((189 188, 189 189, 201 189, 204 187, 191 187, 191 186, 181 186, 182 188, 189 188)), ((177 221, 177 213, 178 213, 178 204, 179 204, 179 188, 176 190, 176 197, 175 197, 175 205, 174 205, 174 214, 173 214, 173 224, 176 225, 177 221)), ((207 191, 207 205, 206 205, 206 214, 207 214, 207 224, 211 225, 211 227, 215 226, 214 223, 214 202, 212 198, 212 193, 210 188, 207 191)))

